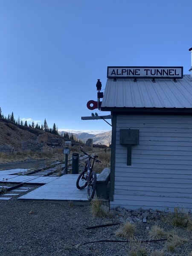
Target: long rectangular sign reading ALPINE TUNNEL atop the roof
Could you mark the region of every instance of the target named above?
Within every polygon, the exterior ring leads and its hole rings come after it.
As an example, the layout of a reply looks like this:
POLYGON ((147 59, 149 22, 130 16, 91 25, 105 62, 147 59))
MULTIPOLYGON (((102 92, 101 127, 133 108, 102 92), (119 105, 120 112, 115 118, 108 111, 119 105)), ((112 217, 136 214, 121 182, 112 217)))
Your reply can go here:
POLYGON ((107 77, 182 79, 183 67, 108 67, 107 77))

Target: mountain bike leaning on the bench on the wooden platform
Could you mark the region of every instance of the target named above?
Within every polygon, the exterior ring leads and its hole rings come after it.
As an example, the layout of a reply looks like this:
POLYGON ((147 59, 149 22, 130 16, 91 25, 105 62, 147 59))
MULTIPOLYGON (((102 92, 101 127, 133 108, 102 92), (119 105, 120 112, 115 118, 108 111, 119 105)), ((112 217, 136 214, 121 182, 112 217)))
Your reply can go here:
POLYGON ((93 199, 95 195, 95 190, 96 190, 96 172, 93 171, 93 165, 95 162, 101 163, 101 161, 97 160, 96 158, 98 156, 91 156, 84 152, 81 147, 81 152, 83 152, 87 156, 87 160, 85 162, 85 167, 83 172, 79 175, 76 181, 76 187, 78 189, 84 189, 87 186, 87 198, 90 201, 93 199), (91 159, 93 160, 91 164, 91 159))

